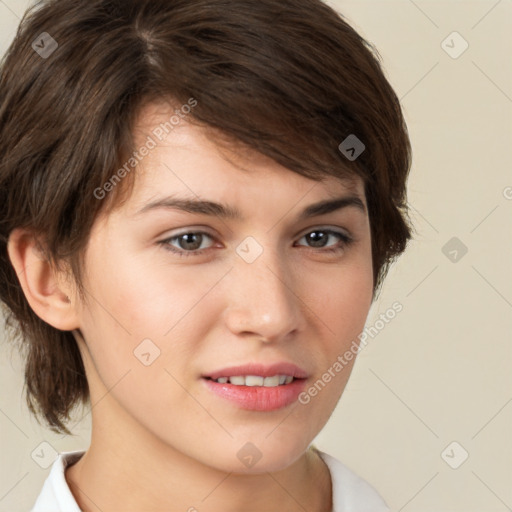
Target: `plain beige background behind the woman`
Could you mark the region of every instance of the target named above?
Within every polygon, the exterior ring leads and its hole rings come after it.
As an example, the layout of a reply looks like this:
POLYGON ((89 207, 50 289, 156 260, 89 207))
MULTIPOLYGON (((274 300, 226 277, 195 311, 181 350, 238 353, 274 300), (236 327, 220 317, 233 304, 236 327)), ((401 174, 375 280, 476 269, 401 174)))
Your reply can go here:
MULTIPOLYGON (((361 352, 316 444, 393 511, 511 510, 512 2, 330 4, 377 46, 402 99, 417 234, 367 325, 395 301, 403 311, 361 352), (442 46, 454 31, 469 44, 458 58, 442 46), (453 237, 467 254, 443 252, 453 237), (465 452, 458 469, 445 462, 456 466, 465 452)), ((0 52, 27 5, 0 1, 0 52)), ((452 35, 446 45, 455 55, 463 41, 452 35)), ((0 511, 17 512, 30 508, 49 471, 31 453, 44 441, 85 449, 90 416, 74 437, 41 428, 21 399, 20 362, 6 343, 0 349, 0 511)))

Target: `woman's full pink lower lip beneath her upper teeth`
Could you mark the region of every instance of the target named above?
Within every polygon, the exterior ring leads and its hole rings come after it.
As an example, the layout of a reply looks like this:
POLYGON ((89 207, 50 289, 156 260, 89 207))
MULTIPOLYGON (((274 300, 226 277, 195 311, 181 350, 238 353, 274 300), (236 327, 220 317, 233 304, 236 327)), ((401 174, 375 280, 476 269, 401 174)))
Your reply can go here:
POLYGON ((235 386, 204 379, 206 387, 241 409, 250 411, 275 411, 297 401, 306 385, 306 379, 296 379, 290 384, 266 388, 264 386, 235 386))

